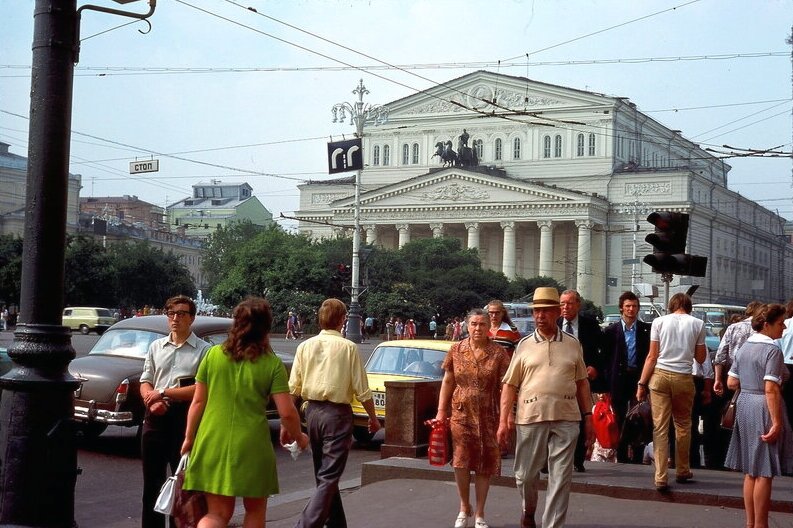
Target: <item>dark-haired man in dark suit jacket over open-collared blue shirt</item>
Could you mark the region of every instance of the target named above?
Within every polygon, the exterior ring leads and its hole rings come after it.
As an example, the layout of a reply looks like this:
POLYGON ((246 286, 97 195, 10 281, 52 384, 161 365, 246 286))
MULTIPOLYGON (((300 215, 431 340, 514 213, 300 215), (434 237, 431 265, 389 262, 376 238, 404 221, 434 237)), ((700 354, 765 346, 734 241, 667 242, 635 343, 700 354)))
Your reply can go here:
MULTIPOLYGON (((621 318, 603 332, 604 377, 611 393, 611 405, 620 430, 625 415, 635 403, 636 384, 650 350, 650 323, 639 320, 639 298, 623 292, 619 298, 621 318)), ((629 439, 620 439, 618 462, 641 463, 642 453, 628 453, 629 439)))

